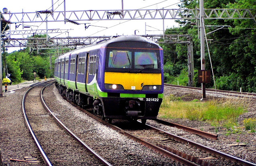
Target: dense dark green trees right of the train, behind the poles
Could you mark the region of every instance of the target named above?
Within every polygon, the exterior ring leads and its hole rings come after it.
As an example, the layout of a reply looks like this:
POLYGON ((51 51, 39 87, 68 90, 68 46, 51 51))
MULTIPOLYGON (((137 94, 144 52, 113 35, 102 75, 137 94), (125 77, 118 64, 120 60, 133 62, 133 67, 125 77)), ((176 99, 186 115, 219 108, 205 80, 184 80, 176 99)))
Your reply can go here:
MULTIPOLYGON (((199 1, 181 0, 180 7, 199 8, 199 1)), ((254 0, 205 0, 204 8, 255 9, 256 3, 254 0)), ((256 14, 255 10, 251 10, 251 12, 253 16, 256 14)), ((191 26, 191 22, 195 22, 195 20, 178 20, 176 22, 180 24, 180 27, 169 28, 165 34, 189 34, 193 40, 194 67, 196 70, 201 69, 197 26, 191 26)), ((212 32, 207 35, 207 39, 212 39, 208 43, 217 88, 238 91, 242 87, 243 91, 256 92, 256 24, 254 20, 206 19, 205 25, 207 25, 206 33, 212 32), (223 25, 226 27, 217 30, 218 26, 223 25)), ((177 79, 173 77, 177 77, 187 67, 187 46, 182 44, 163 44, 161 46, 165 54, 165 82, 174 81, 177 84, 177 79), (180 70, 170 69, 168 67, 170 64, 180 70)), ((205 48, 207 49, 207 47, 205 48)), ((211 69, 207 50, 205 50, 205 69, 211 69)), ((206 85, 207 87, 213 86, 213 79, 211 80, 211 83, 206 85)), ((195 76, 194 83, 196 86, 201 86, 197 83, 197 76, 195 76)))

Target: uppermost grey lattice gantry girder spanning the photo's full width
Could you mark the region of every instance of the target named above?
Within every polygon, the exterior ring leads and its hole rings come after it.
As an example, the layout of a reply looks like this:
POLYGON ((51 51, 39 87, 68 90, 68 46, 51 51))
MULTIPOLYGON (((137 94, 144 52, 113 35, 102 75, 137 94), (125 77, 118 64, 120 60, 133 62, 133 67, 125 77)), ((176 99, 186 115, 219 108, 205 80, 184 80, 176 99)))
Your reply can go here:
MULTIPOLYGON (((15 23, 46 22, 42 12, 3 13, 15 23), (41 16, 42 15, 42 16, 41 16)), ((199 9, 138 9, 138 10, 77 10, 54 11, 47 22, 91 20, 157 20, 199 19, 199 9), (122 16, 122 12, 124 13, 122 16)), ((252 19, 256 22, 256 9, 204 9, 205 19, 252 19)))

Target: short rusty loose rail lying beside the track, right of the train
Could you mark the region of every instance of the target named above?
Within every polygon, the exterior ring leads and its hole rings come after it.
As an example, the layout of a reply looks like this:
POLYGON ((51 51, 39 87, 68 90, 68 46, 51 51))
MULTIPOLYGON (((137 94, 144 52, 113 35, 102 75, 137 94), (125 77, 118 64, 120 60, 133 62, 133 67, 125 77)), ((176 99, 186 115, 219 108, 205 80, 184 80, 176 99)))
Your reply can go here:
POLYGON ((183 126, 181 124, 176 124, 176 123, 171 123, 171 122, 163 121, 161 119, 153 119, 153 120, 157 121, 158 123, 166 124, 168 126, 172 126, 172 127, 176 127, 176 128, 181 128, 181 129, 183 129, 183 130, 185 130, 187 132, 191 132, 193 134, 204 136, 206 138, 211 138, 213 140, 217 140, 218 139, 218 135, 212 134, 210 132, 205 132, 205 131, 197 130, 195 128, 191 128, 191 127, 188 127, 188 126, 183 126))

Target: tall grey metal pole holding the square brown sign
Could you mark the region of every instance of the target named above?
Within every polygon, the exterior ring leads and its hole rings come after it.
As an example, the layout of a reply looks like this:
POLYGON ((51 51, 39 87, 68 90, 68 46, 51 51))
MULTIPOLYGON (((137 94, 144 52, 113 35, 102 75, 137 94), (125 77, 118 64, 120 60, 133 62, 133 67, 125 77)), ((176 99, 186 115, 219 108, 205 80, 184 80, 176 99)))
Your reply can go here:
MULTIPOLYGON (((205 70, 205 38, 204 38, 204 8, 203 0, 200 0, 200 42, 201 42, 201 70, 205 70)), ((205 83, 202 83, 202 99, 205 99, 205 83)))

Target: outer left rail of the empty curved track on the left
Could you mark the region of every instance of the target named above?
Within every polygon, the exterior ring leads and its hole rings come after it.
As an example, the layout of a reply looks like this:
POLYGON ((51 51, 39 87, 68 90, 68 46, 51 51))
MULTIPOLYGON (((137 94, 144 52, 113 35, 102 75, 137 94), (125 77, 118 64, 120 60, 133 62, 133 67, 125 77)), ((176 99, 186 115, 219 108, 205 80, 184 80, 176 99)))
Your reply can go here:
MULTIPOLYGON (((53 81, 53 80, 51 80, 51 81, 53 81)), ((48 82, 48 81, 45 81, 45 82, 48 82)), ((42 82, 42 83, 45 83, 45 82, 42 82)), ((39 83, 39 84, 41 84, 41 83, 39 83)), ((38 85, 38 84, 37 84, 37 85, 38 85)), ((22 99, 22 111, 23 111, 23 115, 24 115, 24 119, 25 119, 26 126, 28 127, 28 130, 29 130, 30 134, 32 135, 32 137, 33 137, 34 140, 35 140, 35 143, 36 143, 36 145, 37 145, 37 148, 39 149, 39 152, 40 152, 40 155, 41 155, 43 161, 45 162, 45 164, 47 164, 47 166, 52 166, 51 162, 49 161, 49 159, 47 158, 45 152, 43 151, 41 145, 39 144, 39 142, 38 142, 38 140, 37 140, 37 137, 35 136, 35 134, 34 134, 32 128, 31 128, 31 126, 30 126, 30 124, 29 124, 29 122, 28 122, 28 118, 27 118, 27 116, 26 116, 26 110, 25 110, 25 99, 26 99, 26 96, 27 96, 28 92, 29 92, 31 89, 33 89, 35 86, 37 86, 37 85, 34 85, 34 86, 31 87, 30 89, 28 89, 28 91, 26 91, 26 93, 24 94, 23 99, 22 99)))

